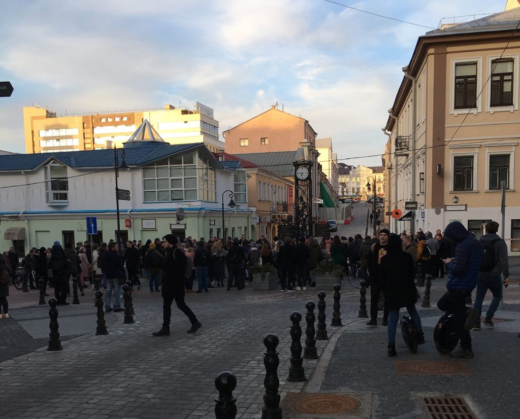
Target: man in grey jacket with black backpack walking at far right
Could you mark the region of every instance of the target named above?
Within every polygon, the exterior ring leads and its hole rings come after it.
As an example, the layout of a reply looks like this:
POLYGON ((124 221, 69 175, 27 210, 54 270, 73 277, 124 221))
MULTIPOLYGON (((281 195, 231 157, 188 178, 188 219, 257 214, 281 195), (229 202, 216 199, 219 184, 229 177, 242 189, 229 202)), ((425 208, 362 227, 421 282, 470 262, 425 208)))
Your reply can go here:
POLYGON ((480 242, 484 246, 484 260, 480 265, 480 272, 477 279, 477 294, 473 308, 477 310, 477 319, 473 330, 480 330, 480 314, 482 313, 482 303, 488 290, 493 294, 493 300, 489 305, 484 319, 484 325, 495 327, 492 318, 498 308, 498 303, 502 299, 502 277, 504 275, 504 287, 509 285, 509 261, 508 247, 502 240, 498 232, 499 224, 490 221, 486 224, 486 234, 480 237, 480 242))

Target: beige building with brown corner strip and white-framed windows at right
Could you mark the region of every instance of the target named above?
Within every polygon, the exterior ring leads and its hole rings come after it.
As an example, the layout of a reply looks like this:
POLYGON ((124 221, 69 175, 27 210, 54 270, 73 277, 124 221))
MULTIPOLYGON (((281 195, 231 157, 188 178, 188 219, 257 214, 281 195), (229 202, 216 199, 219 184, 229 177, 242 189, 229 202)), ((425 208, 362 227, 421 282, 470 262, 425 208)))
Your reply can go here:
POLYGON ((459 220, 478 237, 482 224, 501 222, 504 181, 504 238, 520 238, 519 19, 516 7, 419 37, 383 128, 390 207, 418 202, 393 231, 459 220))

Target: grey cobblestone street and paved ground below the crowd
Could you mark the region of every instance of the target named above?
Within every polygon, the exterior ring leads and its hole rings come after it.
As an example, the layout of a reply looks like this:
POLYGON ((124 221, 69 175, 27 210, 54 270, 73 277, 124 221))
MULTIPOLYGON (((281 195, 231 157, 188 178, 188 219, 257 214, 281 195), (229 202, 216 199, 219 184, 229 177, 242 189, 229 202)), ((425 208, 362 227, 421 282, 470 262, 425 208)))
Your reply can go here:
MULTIPOLYGON (((436 377, 397 375, 394 360, 449 359, 436 353, 431 338, 439 311, 421 310, 430 339, 418 354, 400 348, 399 356, 389 359, 386 329, 368 328, 365 319, 357 319, 359 293, 347 282, 341 300, 344 327, 328 326, 330 340, 317 342, 320 359, 304 361, 308 381, 289 383, 289 315, 298 310, 304 316, 305 303, 317 301, 319 290, 281 293, 248 288, 226 292, 216 288, 209 293, 188 294, 187 303, 203 323, 202 329, 187 334, 187 318, 173 307, 172 334, 163 337, 151 336, 162 322, 162 299, 158 293, 149 293, 146 283, 141 291, 134 292, 136 323, 123 325, 123 313, 107 314, 107 336, 94 334, 96 310, 92 295, 87 294, 81 305, 59 306, 64 349, 55 353, 46 350, 48 306, 34 305, 36 293, 24 294, 29 301, 19 301, 15 307, 20 308, 10 309, 11 318, 0 320, 0 355, 5 360, 0 363, 0 416, 211 418, 217 396, 215 376, 229 370, 238 381, 237 417, 259 418, 265 377, 263 337, 275 333, 280 338, 282 400, 294 391, 357 393, 371 400, 371 415, 365 417, 405 419, 423 417, 417 402, 421 394, 447 392, 465 395, 479 418, 517 417, 516 411, 515 415, 511 413, 515 406, 511 400, 518 393, 518 369, 511 366, 518 365, 514 349, 520 342, 516 337, 520 331, 518 285, 506 290, 504 310, 496 316, 510 321, 497 323, 494 330, 473 333, 476 357, 463 362, 475 375, 436 377), (499 382, 505 383, 505 391, 500 390, 499 382), (499 403, 500 416, 490 414, 499 403)), ((444 282, 435 281, 432 306, 443 292, 444 282)), ((332 292, 328 292, 326 301, 329 325, 332 292)), ((305 333, 302 344, 304 337, 305 333)), ((293 417, 291 412, 284 411, 284 418, 288 417, 293 417)), ((353 412, 320 417, 362 416, 353 412)))

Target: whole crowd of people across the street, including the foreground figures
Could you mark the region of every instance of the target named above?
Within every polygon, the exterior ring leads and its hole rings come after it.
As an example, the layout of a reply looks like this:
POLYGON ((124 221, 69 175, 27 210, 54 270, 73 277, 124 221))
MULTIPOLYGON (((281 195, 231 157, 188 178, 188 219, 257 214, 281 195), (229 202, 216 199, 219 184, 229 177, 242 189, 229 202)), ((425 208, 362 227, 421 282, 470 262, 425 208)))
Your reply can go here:
MULTIPOLYGON (((66 305, 70 295, 70 279, 77 281, 82 295, 99 278, 106 290, 106 312, 122 311, 121 286, 128 279, 137 290, 140 278, 147 280, 150 292, 162 292, 163 325, 155 336, 169 334, 171 305, 176 302, 191 322, 189 333, 202 325, 184 301, 185 293, 206 293, 209 288, 226 287, 227 291, 245 288, 252 281, 252 273, 259 266, 270 265, 277 272, 280 289, 284 292, 316 287, 316 268, 333 262, 343 276, 364 278, 370 287, 370 320, 377 326, 378 311, 382 308, 382 326, 388 329, 388 355, 395 356, 395 334, 400 308, 406 308, 418 331, 419 343, 424 343, 420 316, 415 309, 418 298, 416 284, 426 275, 432 278, 447 276, 447 292, 438 307, 453 314, 461 348, 451 355, 456 358, 473 357, 469 330, 480 329, 480 312, 487 290, 493 294, 484 325, 493 327, 492 317, 508 286, 509 268, 507 248, 498 235, 498 223, 486 225, 487 234, 477 240, 460 222, 449 223, 444 232, 401 235, 379 229, 373 237, 364 239, 330 234, 317 240, 314 237, 274 237, 269 241, 212 237, 199 240, 187 237, 180 240, 168 234, 145 243, 136 240, 124 245, 110 240, 101 245, 88 241, 68 243, 63 248, 55 241, 50 248, 33 248, 22 260, 23 292, 36 288, 43 279, 46 287, 53 287, 58 304, 66 305), (227 281, 226 279, 227 273, 227 281), (501 275, 504 276, 502 282, 501 275), (193 285, 197 283, 197 289, 193 285), (474 309, 466 313, 465 301, 477 288, 474 309), (161 288, 161 289, 160 289, 161 288)), ((2 318, 8 317, 7 276, 14 275, 19 258, 13 248, 0 255, 0 305, 2 318), (4 274, 5 272, 5 274, 4 274), (2 280, 4 278, 4 281, 2 280)), ((45 292, 46 294, 46 292, 45 292)), ((47 295, 47 294, 46 294, 47 295)))

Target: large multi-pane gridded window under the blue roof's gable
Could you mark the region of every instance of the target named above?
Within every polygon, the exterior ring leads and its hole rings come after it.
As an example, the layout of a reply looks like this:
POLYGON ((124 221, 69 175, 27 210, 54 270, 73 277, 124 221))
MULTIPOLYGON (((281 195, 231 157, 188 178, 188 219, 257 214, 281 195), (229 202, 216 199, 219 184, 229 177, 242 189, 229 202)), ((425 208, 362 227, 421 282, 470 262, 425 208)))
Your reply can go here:
MULTIPOLYGON (((207 162, 207 159, 205 160, 207 162)), ((203 167, 199 158, 197 168, 196 152, 185 153, 158 161, 153 166, 143 169, 143 186, 145 202, 189 201, 197 200, 197 170, 204 173, 199 178, 202 186, 206 186, 202 196, 209 196, 209 187, 215 187, 215 169, 203 167), (209 180, 212 179, 212 182, 209 180)), ((213 199, 216 191, 213 190, 213 199)))

